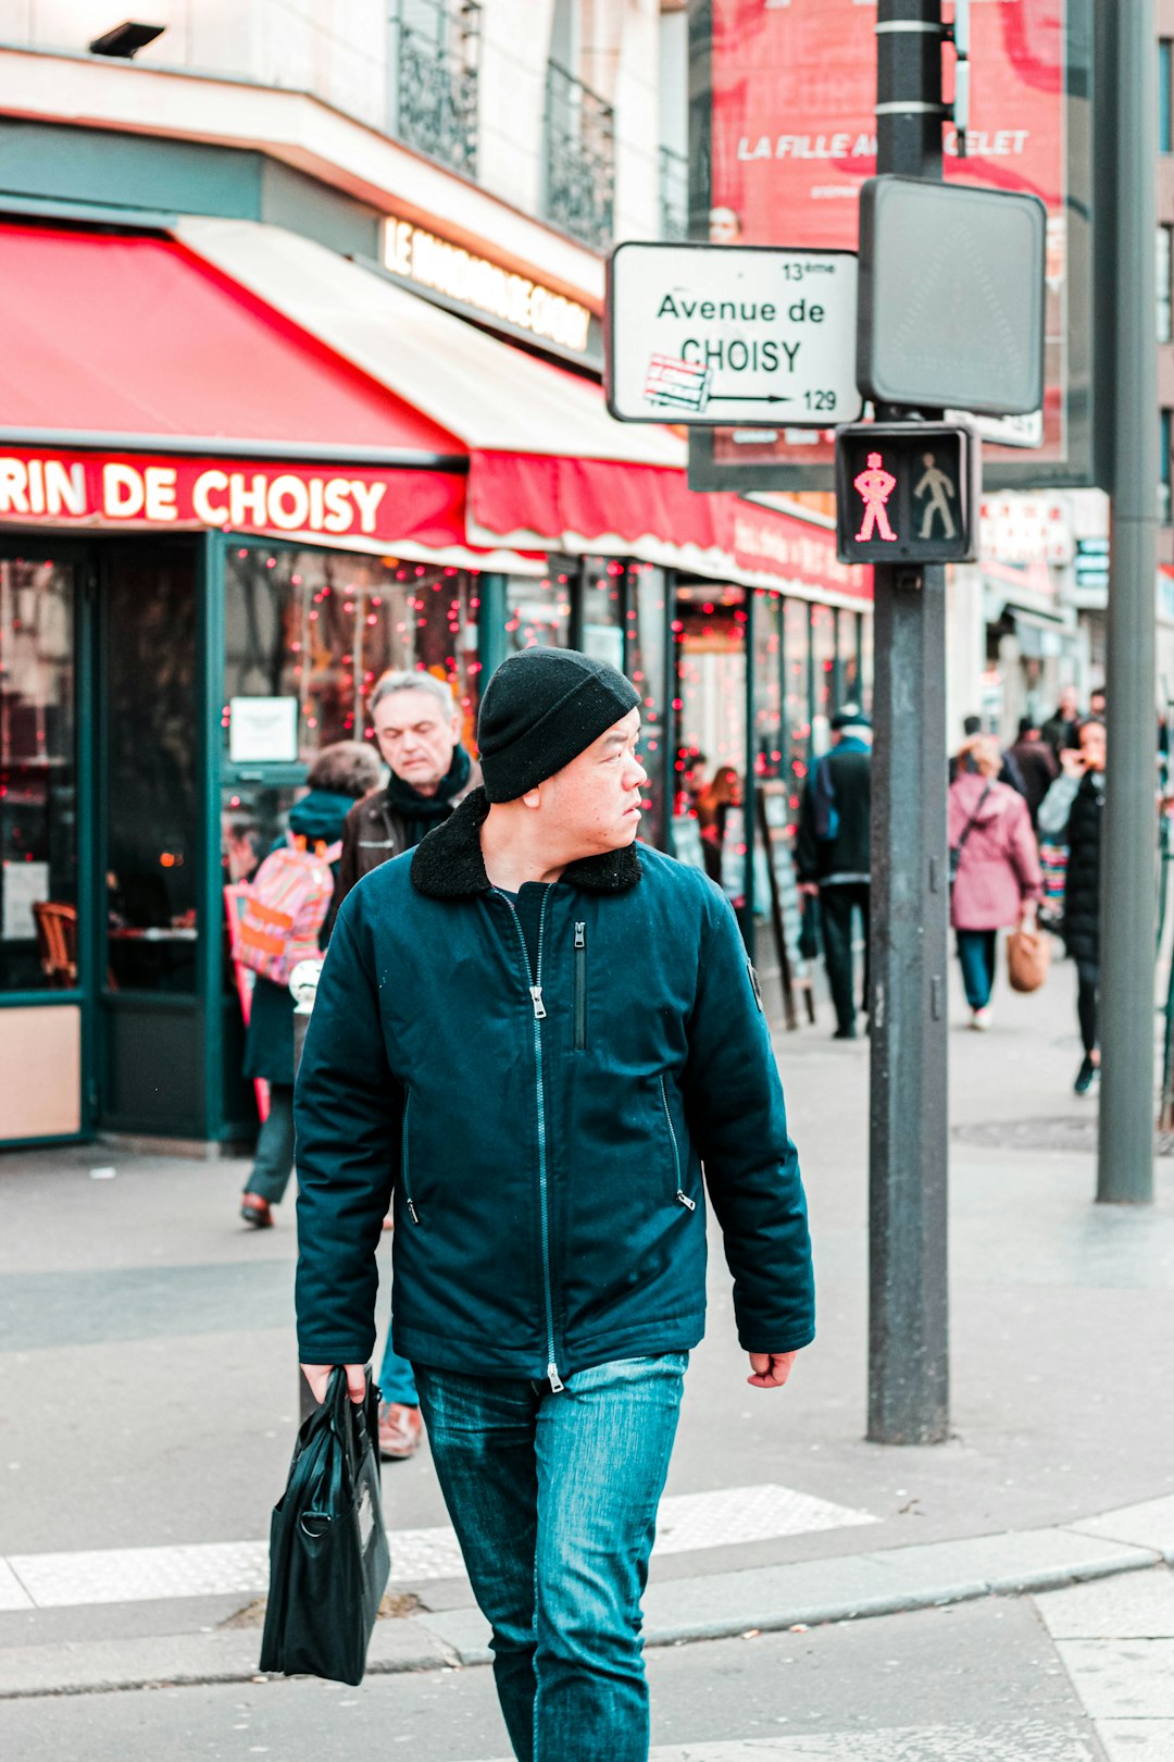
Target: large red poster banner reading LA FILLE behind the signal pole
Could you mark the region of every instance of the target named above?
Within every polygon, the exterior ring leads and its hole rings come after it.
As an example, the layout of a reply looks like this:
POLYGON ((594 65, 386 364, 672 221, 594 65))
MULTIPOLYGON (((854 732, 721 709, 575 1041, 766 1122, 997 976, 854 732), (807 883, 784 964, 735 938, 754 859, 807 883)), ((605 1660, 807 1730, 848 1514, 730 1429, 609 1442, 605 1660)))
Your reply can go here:
MULTIPOLYGON (((877 171, 875 4, 711 0, 711 238, 855 250, 859 189, 877 171)), ((947 180, 1024 190, 1047 208, 1049 389, 1033 458, 1063 456, 1065 12, 1067 0, 973 0, 966 159, 954 129, 943 132, 947 180)), ((949 100, 949 51, 943 65, 949 100)), ((778 455, 725 444, 718 456, 778 455)), ((829 455, 808 444, 787 456, 829 455)))

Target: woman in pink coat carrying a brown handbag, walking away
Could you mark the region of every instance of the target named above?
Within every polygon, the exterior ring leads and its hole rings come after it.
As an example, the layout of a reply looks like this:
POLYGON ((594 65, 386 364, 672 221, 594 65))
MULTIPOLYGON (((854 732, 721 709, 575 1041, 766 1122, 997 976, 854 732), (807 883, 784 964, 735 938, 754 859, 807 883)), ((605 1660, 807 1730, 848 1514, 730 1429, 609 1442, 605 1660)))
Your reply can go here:
POLYGON ((970 1025, 991 1025, 991 987, 998 932, 1035 922, 1044 897, 1031 816, 1010 784, 998 782, 998 740, 977 735, 958 754, 950 784, 949 839, 956 851, 950 923, 970 1004, 970 1025))

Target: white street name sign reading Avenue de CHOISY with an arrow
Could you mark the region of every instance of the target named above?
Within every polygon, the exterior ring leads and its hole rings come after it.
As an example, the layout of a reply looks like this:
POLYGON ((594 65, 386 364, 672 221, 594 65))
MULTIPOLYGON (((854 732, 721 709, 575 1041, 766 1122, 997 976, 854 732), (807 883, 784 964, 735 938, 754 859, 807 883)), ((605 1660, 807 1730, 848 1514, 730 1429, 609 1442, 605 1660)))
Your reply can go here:
POLYGON ((854 421, 857 259, 848 250, 618 245, 604 389, 621 423, 833 428, 854 421))

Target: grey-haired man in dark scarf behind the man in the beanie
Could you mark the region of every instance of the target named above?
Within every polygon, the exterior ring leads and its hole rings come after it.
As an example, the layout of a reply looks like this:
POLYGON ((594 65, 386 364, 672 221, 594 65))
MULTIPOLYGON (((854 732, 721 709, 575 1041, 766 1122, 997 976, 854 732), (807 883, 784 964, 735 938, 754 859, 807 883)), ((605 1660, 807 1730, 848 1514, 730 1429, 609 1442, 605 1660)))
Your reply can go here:
MULTIPOLYGON (((481 766, 461 745, 461 712, 435 673, 393 671, 368 700, 375 740, 391 770, 343 821, 334 911, 356 881, 391 856, 414 849, 481 786, 481 766)), ((387 1348, 378 1373, 378 1448, 387 1461, 414 1455, 424 1438, 415 1378, 407 1359, 387 1348)))

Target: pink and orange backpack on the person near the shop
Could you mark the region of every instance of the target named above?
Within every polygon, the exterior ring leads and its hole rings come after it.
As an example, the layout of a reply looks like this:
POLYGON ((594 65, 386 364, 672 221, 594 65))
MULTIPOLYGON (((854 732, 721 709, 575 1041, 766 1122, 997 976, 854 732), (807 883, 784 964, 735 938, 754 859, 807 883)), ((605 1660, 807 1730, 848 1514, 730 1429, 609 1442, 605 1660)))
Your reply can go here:
POLYGON ((308 849, 306 840, 294 833, 269 851, 253 879, 241 888, 241 966, 275 985, 287 985, 299 960, 317 960, 319 930, 334 895, 331 863, 340 855, 341 842, 319 842, 308 849))

